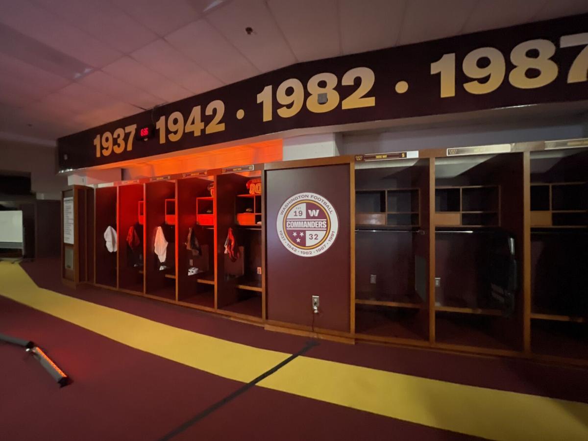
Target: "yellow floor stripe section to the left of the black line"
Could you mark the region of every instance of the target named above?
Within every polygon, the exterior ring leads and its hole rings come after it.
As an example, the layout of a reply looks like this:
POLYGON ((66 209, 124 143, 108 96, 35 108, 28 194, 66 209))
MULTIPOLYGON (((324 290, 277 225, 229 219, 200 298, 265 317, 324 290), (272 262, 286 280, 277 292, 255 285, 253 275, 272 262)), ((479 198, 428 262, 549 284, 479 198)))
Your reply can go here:
POLYGON ((290 356, 174 328, 42 289, 19 265, 0 262, 0 294, 163 358, 248 383, 290 356))

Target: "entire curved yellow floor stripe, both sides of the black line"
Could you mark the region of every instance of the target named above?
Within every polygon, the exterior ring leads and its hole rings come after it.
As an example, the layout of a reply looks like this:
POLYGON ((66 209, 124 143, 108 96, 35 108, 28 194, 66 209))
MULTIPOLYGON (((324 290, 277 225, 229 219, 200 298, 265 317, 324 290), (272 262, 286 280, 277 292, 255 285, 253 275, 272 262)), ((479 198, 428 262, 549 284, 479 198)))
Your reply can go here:
MULTIPOLYGON (((289 356, 173 328, 41 289, 20 266, 9 263, 0 262, 0 294, 133 348, 241 382, 249 382, 289 356)), ((588 405, 584 403, 304 356, 259 385, 487 439, 588 439, 588 405)))

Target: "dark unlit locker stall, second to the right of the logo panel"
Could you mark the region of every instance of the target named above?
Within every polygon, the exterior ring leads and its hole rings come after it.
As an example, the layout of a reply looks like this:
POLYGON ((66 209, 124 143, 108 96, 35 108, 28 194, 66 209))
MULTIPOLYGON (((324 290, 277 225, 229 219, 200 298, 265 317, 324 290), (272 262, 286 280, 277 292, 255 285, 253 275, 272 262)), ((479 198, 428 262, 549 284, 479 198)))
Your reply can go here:
POLYGON ((435 159, 435 342, 523 348, 523 153, 435 159))

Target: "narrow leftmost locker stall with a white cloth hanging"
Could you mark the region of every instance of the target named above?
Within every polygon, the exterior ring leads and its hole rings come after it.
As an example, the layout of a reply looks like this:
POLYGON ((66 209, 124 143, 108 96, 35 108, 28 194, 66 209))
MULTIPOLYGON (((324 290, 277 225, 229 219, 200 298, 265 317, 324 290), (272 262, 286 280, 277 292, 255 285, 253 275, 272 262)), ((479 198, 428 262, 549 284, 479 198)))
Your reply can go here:
POLYGON ((117 188, 97 188, 95 191, 95 283, 116 288, 118 228, 116 216, 117 188))

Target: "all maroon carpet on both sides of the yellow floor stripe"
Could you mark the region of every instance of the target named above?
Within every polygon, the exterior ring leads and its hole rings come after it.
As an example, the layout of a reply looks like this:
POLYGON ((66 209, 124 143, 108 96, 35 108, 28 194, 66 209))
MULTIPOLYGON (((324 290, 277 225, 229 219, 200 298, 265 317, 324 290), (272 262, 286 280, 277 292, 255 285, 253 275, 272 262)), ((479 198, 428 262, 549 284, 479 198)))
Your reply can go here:
MULTIPOLYGON (((302 349, 308 341, 109 290, 71 290, 61 285, 59 262, 55 260, 23 263, 22 268, 42 288, 252 348, 291 354, 302 349)), ((75 380, 71 386, 59 389, 41 366, 27 358, 21 349, 0 344, 0 439, 37 439, 41 436, 45 439, 160 439, 243 387, 242 382, 131 348, 1 296, 0 332, 35 340, 75 380)), ((186 350, 198 351, 198 348, 186 350)), ((588 372, 582 369, 523 360, 323 341, 304 357, 463 385, 588 402, 588 372)), ((284 368, 279 371, 280 375, 282 371, 288 373, 284 368)), ((311 376, 313 372, 304 375, 311 376)), ((390 394, 395 392, 389 391, 390 394)), ((422 399, 426 400, 426 395, 422 399)), ((432 414, 435 411, 430 409, 432 414)), ((467 419, 468 416, 461 417, 467 419)), ((208 413, 173 439, 468 437, 254 386, 208 413)))

